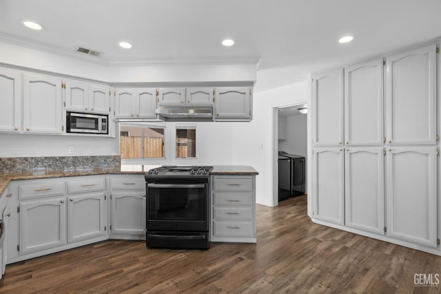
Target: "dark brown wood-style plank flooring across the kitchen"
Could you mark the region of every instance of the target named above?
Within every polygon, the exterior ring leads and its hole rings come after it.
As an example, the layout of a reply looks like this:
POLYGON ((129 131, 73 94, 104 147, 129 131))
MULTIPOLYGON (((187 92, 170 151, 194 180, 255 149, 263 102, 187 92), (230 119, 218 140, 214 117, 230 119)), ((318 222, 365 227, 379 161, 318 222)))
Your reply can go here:
POLYGON ((441 273, 441 257, 320 226, 306 213, 305 196, 258 205, 257 244, 200 251, 107 240, 10 264, 0 293, 440 293, 414 275, 441 273))

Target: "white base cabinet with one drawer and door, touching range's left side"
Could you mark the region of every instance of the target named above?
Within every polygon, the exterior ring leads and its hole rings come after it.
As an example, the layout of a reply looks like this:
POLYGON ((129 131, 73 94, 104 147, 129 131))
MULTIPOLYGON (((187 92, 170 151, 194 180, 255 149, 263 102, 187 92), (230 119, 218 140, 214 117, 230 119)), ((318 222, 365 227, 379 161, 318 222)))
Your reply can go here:
POLYGON ((112 238, 145 239, 145 178, 143 175, 110 177, 112 238))

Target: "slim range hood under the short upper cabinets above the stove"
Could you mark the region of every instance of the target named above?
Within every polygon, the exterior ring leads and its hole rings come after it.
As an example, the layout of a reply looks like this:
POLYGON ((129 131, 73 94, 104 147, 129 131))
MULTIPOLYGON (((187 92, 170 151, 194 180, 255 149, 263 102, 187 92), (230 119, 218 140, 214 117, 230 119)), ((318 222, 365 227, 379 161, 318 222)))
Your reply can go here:
POLYGON ((213 121, 212 106, 158 107, 156 116, 165 121, 213 121))

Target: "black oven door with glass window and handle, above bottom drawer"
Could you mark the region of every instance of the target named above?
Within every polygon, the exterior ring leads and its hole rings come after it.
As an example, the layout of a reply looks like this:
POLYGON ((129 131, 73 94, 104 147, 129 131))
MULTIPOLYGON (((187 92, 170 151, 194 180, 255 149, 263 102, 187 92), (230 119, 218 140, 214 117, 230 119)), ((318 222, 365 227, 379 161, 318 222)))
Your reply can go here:
POLYGON ((147 232, 208 231, 209 188, 201 183, 147 183, 147 232))

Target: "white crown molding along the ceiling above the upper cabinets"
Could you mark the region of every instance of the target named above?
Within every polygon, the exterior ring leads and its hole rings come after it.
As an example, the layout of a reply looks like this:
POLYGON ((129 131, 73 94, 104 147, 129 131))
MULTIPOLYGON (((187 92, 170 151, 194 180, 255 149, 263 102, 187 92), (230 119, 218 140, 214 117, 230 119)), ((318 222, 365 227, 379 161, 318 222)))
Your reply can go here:
POLYGON ((80 61, 96 63, 107 67, 133 67, 148 65, 258 65, 260 56, 212 56, 212 57, 161 57, 158 59, 105 59, 103 56, 96 57, 72 51, 70 48, 49 45, 47 43, 24 39, 12 34, 0 32, 0 41, 17 45, 23 48, 38 50, 41 52, 56 54, 80 61))

